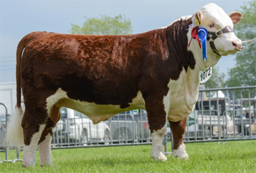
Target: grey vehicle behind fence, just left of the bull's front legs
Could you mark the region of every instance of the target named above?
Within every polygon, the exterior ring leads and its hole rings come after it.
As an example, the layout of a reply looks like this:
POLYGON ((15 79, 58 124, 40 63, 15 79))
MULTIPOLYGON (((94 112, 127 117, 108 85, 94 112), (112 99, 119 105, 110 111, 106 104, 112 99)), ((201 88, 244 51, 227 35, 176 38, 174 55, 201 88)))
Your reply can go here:
POLYGON ((150 130, 146 111, 135 109, 113 116, 108 121, 113 143, 149 142, 150 130))

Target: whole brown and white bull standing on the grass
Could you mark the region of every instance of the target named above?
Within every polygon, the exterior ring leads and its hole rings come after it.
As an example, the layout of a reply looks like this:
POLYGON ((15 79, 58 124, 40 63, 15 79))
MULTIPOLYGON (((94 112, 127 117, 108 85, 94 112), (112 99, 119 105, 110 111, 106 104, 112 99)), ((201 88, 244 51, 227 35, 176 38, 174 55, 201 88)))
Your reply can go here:
POLYGON ((136 35, 26 35, 17 48, 17 105, 7 142, 23 145, 25 167, 34 165, 37 146, 41 165, 52 164, 50 141, 61 107, 80 111, 93 123, 142 108, 148 113, 151 157, 167 160, 162 138, 169 121, 174 155, 188 159, 183 134, 198 99, 199 71, 241 50, 232 32, 241 18, 242 13, 207 4, 193 16, 136 35), (195 27, 209 32, 206 61, 198 41, 191 40, 195 27))

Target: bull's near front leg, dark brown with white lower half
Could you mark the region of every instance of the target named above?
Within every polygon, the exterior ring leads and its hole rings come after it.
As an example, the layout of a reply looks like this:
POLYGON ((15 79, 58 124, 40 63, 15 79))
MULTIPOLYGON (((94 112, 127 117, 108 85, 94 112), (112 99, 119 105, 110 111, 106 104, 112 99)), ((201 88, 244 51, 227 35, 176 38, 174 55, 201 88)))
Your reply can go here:
POLYGON ((152 97, 145 98, 146 111, 148 114, 149 129, 152 135, 152 155, 154 160, 166 161, 164 155, 163 137, 166 134, 166 112, 164 111, 163 99, 152 97))

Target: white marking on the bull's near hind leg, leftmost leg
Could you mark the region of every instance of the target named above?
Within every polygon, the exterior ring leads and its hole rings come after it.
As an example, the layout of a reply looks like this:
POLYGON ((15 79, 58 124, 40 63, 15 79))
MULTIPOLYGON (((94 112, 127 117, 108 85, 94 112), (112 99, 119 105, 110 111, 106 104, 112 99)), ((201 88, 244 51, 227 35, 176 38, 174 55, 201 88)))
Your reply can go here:
POLYGON ((36 147, 38 146, 38 141, 41 138, 43 129, 46 127, 46 124, 42 124, 39 127, 39 131, 32 135, 30 145, 25 145, 23 147, 24 157, 23 157, 23 166, 25 167, 34 167, 35 158, 36 158, 36 147))

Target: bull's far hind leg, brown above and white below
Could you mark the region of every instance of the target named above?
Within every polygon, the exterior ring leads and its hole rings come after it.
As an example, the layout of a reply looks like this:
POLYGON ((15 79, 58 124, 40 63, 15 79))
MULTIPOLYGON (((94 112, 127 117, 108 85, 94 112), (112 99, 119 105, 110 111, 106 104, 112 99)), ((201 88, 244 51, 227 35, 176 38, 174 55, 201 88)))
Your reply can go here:
POLYGON ((53 136, 53 128, 59 120, 60 108, 53 106, 50 110, 50 118, 46 121, 46 127, 43 130, 38 144, 41 166, 53 164, 50 152, 50 142, 53 136))

